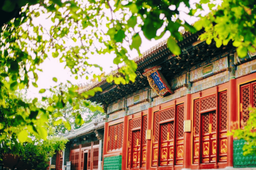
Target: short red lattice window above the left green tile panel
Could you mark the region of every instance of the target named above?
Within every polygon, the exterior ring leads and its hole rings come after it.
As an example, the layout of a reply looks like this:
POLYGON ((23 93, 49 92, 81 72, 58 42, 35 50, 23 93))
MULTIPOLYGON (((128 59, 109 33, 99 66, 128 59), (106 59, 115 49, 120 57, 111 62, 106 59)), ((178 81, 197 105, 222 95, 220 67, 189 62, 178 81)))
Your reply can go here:
POLYGON ((124 123, 109 127, 108 131, 108 151, 118 150, 123 144, 124 123))

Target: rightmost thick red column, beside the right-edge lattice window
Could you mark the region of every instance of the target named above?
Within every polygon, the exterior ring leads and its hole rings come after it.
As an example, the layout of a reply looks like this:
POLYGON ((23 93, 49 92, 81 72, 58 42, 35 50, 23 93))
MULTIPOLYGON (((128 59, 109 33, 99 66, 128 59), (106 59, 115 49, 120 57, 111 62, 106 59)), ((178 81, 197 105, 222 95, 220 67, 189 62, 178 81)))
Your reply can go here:
MULTIPOLYGON (((232 125, 237 122, 237 100, 239 100, 239 98, 237 98, 237 90, 236 79, 230 79, 228 87, 228 131, 231 131, 232 125)), ((227 136, 227 139, 227 163, 228 166, 233 167, 233 136, 227 136)))

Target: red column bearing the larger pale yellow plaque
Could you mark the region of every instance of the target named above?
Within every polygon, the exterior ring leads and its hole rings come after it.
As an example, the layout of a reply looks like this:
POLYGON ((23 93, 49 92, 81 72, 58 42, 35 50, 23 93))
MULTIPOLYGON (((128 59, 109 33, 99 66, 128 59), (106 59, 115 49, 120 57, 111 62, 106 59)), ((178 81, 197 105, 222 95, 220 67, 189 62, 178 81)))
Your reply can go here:
MULTIPOLYGON (((186 95, 186 103, 185 103, 185 112, 184 112, 184 120, 190 119, 190 107, 191 106, 191 94, 188 93, 186 95)), ((190 160, 191 160, 191 131, 184 132, 184 157, 183 157, 183 168, 190 168, 190 160)))

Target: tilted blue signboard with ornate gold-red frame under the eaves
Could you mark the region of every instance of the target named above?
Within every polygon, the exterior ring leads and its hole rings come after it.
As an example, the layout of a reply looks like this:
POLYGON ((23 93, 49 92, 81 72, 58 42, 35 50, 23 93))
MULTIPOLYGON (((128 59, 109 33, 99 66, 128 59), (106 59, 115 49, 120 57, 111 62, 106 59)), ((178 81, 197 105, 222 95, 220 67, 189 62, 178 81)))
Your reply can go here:
POLYGON ((174 92, 170 89, 166 79, 159 71, 161 68, 161 66, 155 66, 145 69, 143 75, 147 77, 150 87, 157 93, 157 95, 163 97, 168 92, 171 94, 174 92))

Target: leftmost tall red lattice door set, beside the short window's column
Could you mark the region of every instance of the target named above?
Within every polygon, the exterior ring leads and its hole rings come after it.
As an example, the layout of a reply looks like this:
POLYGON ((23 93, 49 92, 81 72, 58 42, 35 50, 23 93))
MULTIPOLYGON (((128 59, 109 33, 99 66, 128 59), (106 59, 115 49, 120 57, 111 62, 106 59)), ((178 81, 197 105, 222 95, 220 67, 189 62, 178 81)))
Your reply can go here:
POLYGON ((147 116, 129 120, 127 168, 146 166, 147 116))

